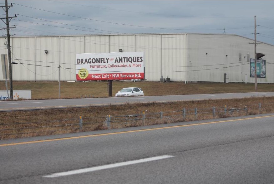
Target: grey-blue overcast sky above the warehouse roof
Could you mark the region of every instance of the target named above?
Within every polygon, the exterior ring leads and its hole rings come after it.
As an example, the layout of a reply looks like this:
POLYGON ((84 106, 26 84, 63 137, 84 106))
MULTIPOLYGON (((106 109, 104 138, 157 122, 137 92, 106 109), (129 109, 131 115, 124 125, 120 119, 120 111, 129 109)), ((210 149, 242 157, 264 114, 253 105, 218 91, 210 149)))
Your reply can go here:
MULTIPOLYGON (((5 1, 1 1, 4 6, 5 1)), ((225 33, 274 45, 274 1, 8 1, 16 36, 225 33), (41 20, 43 19, 43 20, 41 20), (66 25, 65 25, 66 24, 66 25)), ((5 17, 4 10, 0 15, 5 17)), ((5 24, 1 21, 1 27, 5 24)), ((5 35, 5 30, 1 30, 5 35)))

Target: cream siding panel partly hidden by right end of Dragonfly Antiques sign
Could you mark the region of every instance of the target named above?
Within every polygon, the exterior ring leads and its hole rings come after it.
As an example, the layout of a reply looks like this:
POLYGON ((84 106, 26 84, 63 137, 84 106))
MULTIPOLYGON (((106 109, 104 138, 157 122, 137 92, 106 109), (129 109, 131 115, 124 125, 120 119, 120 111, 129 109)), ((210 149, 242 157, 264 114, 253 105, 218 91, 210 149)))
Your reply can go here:
POLYGON ((136 35, 136 52, 145 54, 145 79, 159 81, 161 78, 161 35, 136 35))

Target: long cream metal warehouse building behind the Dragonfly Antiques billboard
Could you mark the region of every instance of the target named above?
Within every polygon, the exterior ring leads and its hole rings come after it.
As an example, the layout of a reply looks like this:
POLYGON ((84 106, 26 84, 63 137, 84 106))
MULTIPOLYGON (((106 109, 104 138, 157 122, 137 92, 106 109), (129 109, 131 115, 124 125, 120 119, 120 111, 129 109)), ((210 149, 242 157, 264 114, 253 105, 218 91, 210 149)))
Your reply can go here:
MULTIPOLYGON (((7 54, 4 37, 0 52, 7 54)), ((231 34, 122 34, 70 36, 12 36, 13 80, 76 80, 76 54, 144 52, 145 79, 160 81, 255 82, 250 59, 254 40, 231 34), (252 44, 253 43, 253 44, 252 44), (46 53, 47 51, 47 53, 46 53)), ((265 77, 258 83, 274 83, 274 46, 257 45, 257 59, 266 60, 265 77)), ((0 80, 3 79, 0 65, 0 80)))

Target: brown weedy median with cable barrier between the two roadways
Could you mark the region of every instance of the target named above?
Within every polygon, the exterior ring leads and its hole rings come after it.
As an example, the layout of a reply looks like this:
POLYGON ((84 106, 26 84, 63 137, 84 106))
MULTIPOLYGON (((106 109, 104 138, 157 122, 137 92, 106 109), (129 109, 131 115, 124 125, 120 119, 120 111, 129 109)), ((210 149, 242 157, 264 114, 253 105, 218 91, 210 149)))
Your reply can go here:
POLYGON ((1 112, 0 138, 34 137, 273 112, 273 97, 1 112), (261 103, 260 110, 259 103, 261 103), (226 113, 224 112, 225 105, 226 113), (216 107, 215 116, 212 113, 213 107, 216 107), (196 115, 195 108, 199 109, 196 115), (186 110, 185 117, 182 114, 183 109, 186 110), (146 114, 145 121, 143 112, 146 114), (160 112, 163 113, 162 118, 160 112), (106 126, 107 115, 112 117, 109 127, 106 126), (79 127, 80 116, 83 118, 81 129, 79 127))

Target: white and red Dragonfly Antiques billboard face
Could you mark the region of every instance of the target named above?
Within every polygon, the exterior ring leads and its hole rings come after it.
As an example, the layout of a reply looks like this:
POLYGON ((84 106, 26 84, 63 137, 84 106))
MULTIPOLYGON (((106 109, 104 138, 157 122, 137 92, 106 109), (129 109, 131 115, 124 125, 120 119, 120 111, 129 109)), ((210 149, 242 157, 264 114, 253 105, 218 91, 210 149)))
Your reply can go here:
POLYGON ((76 54, 76 80, 145 79, 144 52, 76 54))

